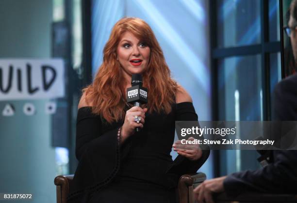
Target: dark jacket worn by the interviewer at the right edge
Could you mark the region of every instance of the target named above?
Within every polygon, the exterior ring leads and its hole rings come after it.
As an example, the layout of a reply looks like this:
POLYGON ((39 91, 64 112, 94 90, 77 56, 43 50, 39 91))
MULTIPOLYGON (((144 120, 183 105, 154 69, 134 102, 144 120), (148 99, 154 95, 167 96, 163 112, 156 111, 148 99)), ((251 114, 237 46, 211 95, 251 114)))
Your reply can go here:
MULTIPOLYGON (((282 80, 274 92, 275 120, 297 120, 297 74, 282 80)), ((297 151, 271 150, 271 163, 255 171, 228 175, 224 188, 236 196, 247 190, 266 193, 297 193, 297 151)))

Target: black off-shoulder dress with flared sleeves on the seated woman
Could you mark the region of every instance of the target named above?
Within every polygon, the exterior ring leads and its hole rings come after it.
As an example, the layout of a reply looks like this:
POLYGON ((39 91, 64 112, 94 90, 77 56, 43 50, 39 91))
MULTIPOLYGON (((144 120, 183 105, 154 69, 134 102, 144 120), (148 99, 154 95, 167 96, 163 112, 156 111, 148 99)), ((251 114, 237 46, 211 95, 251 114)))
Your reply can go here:
POLYGON ((77 116, 79 165, 68 203, 175 203, 182 174, 195 173, 207 160, 170 156, 176 120, 198 120, 191 102, 173 104, 169 114, 146 114, 144 128, 119 145, 123 121, 108 124, 82 107, 77 116))

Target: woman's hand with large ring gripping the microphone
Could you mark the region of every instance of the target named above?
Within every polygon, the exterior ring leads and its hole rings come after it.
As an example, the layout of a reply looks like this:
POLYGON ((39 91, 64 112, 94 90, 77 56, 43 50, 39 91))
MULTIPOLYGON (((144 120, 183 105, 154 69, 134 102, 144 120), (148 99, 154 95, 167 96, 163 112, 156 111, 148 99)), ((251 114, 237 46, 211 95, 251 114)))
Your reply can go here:
POLYGON ((134 134, 135 128, 143 128, 145 123, 145 113, 148 111, 147 108, 142 109, 141 107, 133 106, 131 109, 126 111, 125 121, 122 126, 121 141, 127 139, 130 135, 134 134), (139 123, 135 122, 135 116, 140 116, 141 120, 139 123))

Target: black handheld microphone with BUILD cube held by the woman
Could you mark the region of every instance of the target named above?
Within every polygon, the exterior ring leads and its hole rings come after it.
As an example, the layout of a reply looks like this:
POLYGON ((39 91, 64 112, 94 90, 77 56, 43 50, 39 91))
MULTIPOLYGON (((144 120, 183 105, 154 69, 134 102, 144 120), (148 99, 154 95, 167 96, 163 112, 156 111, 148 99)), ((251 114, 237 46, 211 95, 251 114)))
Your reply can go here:
MULTIPOLYGON (((142 87, 141 74, 132 74, 131 85, 132 87, 127 88, 127 102, 134 106, 148 103, 148 89, 142 87)), ((140 129, 136 128, 136 132, 139 131, 140 129)))

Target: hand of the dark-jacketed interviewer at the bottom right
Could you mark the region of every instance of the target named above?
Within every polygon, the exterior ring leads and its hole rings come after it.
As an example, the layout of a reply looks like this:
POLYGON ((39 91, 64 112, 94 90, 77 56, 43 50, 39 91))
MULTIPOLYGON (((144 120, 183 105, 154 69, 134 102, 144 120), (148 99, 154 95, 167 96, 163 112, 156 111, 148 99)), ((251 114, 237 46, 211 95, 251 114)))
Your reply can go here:
POLYGON ((227 176, 205 180, 194 189, 195 200, 198 203, 214 203, 212 194, 214 192, 223 192, 223 181, 227 176))

